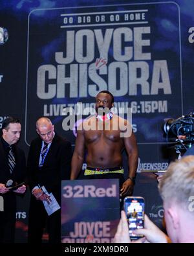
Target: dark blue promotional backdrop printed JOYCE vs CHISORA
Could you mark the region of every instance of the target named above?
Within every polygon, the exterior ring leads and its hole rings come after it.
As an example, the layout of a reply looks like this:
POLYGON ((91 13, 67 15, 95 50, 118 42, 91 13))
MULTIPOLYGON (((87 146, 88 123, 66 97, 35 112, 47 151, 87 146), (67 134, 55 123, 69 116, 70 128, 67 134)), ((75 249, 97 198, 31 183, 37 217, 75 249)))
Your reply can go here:
MULTIPOLYGON (((144 196, 147 215, 161 227, 153 172, 171 159, 165 119, 193 112, 193 12, 192 0, 2 0, 0 128, 9 115, 21 119, 27 156, 44 115, 74 146, 76 126, 108 89, 114 113, 126 117, 131 108, 139 150, 134 195, 144 196)), ((16 242, 27 240, 29 196, 18 199, 16 242)))

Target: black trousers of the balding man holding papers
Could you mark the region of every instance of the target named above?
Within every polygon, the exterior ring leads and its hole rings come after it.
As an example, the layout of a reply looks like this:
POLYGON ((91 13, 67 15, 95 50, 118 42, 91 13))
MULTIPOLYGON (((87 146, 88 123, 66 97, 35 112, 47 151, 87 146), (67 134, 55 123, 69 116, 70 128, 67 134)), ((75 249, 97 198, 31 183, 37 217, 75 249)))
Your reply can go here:
POLYGON ((36 200, 34 196, 31 196, 28 217, 28 242, 40 244, 46 226, 48 230, 48 242, 50 244, 60 243, 61 211, 58 210, 48 216, 43 202, 36 200))

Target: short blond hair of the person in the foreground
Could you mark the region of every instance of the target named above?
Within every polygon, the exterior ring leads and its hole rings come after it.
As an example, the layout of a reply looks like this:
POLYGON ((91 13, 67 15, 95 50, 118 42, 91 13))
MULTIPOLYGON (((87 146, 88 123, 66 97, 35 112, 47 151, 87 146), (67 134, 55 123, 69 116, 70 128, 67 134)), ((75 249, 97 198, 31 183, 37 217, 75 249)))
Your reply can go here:
POLYGON ((188 208, 189 197, 194 196, 194 156, 171 163, 158 189, 165 202, 177 202, 188 208))

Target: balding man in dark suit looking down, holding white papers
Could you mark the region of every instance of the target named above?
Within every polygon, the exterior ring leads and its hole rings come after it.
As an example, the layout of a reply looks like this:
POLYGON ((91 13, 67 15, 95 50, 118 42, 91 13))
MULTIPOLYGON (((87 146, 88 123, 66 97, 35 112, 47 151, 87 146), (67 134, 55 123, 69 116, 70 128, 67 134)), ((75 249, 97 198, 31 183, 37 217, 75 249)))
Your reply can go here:
POLYGON ((27 169, 30 191, 28 242, 40 243, 47 221, 48 242, 61 242, 61 211, 48 216, 43 203, 50 204, 52 192, 61 205, 61 180, 70 178, 72 148, 70 142, 54 133, 50 119, 41 117, 36 122, 39 137, 30 145, 27 169), (43 191, 43 186, 48 194, 43 191))

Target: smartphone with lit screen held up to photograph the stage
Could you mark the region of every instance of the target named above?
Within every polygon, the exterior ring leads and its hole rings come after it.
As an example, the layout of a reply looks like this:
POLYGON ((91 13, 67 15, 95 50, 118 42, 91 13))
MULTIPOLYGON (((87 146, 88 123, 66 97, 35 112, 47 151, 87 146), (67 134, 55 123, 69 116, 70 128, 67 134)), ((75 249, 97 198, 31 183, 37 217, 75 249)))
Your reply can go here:
POLYGON ((145 200, 141 196, 127 196, 124 199, 124 211, 129 224, 131 240, 140 239, 143 235, 133 234, 133 230, 144 228, 145 200))

